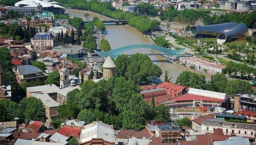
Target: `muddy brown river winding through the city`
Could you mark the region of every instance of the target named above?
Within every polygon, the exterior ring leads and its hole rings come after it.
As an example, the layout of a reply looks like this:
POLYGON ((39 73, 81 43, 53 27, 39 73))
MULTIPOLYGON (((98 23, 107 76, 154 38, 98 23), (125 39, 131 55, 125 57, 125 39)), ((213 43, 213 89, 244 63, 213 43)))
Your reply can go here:
MULTIPOLYGON (((99 19, 105 19, 106 17, 100 16, 98 14, 92 13, 92 12, 86 12, 81 10, 67 10, 66 13, 70 14, 70 16, 76 16, 84 18, 84 14, 88 13, 90 14, 90 19, 92 19, 94 16, 98 16, 99 19)), ((114 50, 116 48, 120 48, 122 46, 128 46, 133 44, 153 44, 153 42, 145 37, 143 34, 141 34, 138 30, 127 26, 127 25, 106 25, 106 31, 104 32, 104 38, 108 40, 108 42, 111 45, 111 48, 114 50)), ((128 54, 134 54, 136 52, 139 53, 152 53, 149 50, 134 50, 132 52, 128 52, 128 54)), ((149 56, 151 60, 165 60, 159 55, 156 56, 149 56)), ((164 80, 164 72, 165 70, 169 71, 170 81, 175 82, 178 75, 182 73, 183 71, 186 71, 184 68, 181 68, 179 66, 176 66, 174 64, 166 63, 166 62, 153 62, 154 64, 158 65, 163 73, 160 76, 160 79, 164 80)), ((210 76, 206 75, 206 80, 210 80, 210 76)))

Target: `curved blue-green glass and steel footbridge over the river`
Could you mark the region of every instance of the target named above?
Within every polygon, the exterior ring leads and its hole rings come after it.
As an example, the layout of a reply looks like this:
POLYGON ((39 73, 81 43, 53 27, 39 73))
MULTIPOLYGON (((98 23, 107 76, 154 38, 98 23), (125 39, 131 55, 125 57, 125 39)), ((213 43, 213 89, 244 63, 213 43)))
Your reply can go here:
POLYGON ((94 52, 103 58, 107 58, 108 56, 110 56, 110 57, 116 59, 121 54, 125 54, 132 50, 139 50, 139 49, 147 49, 147 50, 151 50, 151 51, 156 51, 156 52, 160 52, 164 56, 167 56, 167 57, 172 56, 175 58, 178 57, 185 50, 185 48, 180 49, 180 50, 171 50, 169 48, 164 48, 164 47, 157 46, 157 45, 136 44, 136 45, 120 47, 115 50, 110 50, 108 52, 101 52, 101 51, 97 51, 97 50, 94 50, 94 52))

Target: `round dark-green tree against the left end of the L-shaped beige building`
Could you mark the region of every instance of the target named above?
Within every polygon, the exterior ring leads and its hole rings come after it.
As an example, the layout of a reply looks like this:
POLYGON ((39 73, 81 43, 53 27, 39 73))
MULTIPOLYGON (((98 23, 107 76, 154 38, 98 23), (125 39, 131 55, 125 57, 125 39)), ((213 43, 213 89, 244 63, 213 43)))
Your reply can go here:
POLYGON ((35 97, 25 97, 20 101, 20 108, 23 109, 24 113, 24 116, 20 117, 22 120, 46 121, 45 108, 40 99, 35 97))

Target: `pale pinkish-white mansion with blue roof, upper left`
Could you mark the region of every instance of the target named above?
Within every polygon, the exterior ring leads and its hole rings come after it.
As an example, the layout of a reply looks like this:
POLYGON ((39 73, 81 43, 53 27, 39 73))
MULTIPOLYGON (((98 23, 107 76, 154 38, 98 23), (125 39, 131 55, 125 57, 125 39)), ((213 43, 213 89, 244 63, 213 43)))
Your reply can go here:
POLYGON ((34 48, 52 48, 54 46, 54 35, 52 33, 37 33, 31 38, 34 48))

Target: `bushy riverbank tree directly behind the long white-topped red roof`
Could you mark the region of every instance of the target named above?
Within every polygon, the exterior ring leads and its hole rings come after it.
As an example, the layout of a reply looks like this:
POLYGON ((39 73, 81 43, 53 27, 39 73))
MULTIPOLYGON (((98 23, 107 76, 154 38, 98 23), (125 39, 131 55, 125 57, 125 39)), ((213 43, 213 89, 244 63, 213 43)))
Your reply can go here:
POLYGON ((188 87, 193 87, 196 89, 204 89, 205 88, 205 76, 202 74, 184 71, 180 73, 178 78, 176 79, 176 83, 180 83, 180 85, 186 85, 188 87))

